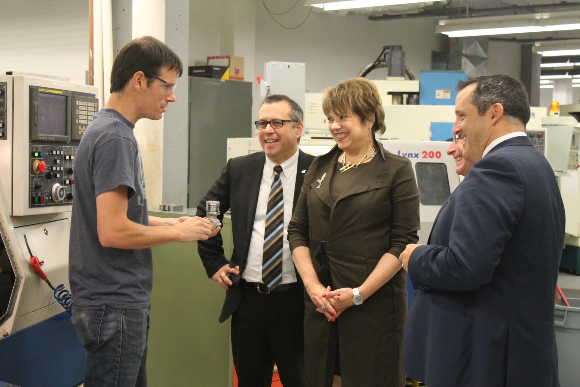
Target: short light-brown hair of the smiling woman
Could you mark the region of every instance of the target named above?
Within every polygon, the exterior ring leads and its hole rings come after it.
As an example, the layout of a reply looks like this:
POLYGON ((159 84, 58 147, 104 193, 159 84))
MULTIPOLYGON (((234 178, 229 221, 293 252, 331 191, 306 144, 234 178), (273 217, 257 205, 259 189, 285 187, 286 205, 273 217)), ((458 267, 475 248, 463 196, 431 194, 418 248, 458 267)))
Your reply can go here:
POLYGON ((326 89, 322 96, 322 111, 326 115, 331 111, 355 113, 363 121, 375 118, 371 131, 379 135, 385 133, 385 110, 375 84, 367 78, 350 78, 326 89))

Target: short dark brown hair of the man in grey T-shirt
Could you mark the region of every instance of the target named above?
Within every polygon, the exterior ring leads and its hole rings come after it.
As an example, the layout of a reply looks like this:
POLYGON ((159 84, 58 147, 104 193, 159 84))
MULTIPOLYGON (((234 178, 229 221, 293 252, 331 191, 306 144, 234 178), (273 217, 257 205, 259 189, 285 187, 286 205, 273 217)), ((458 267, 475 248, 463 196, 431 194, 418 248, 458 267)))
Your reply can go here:
POLYGON ((137 71, 143 71, 147 85, 153 82, 153 75, 159 75, 161 67, 177 70, 183 74, 183 64, 179 56, 164 42, 151 36, 133 39, 123 46, 113 62, 111 70, 111 93, 120 92, 137 71))

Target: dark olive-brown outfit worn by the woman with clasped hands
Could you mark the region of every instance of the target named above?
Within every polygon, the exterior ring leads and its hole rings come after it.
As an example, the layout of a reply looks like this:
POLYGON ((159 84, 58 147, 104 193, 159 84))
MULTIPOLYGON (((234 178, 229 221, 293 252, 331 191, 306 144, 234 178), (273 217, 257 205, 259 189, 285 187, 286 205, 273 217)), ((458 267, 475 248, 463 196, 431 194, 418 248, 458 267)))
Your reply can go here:
MULTIPOLYGON (((419 191, 411 162, 376 146, 373 160, 344 173, 336 168, 336 146, 314 159, 288 225, 291 251, 309 247, 318 279, 333 290, 360 286, 383 254, 398 257, 418 241, 419 191)), ((306 386, 331 386, 339 353, 344 387, 403 387, 406 316, 403 270, 334 323, 316 312, 305 292, 306 386)))

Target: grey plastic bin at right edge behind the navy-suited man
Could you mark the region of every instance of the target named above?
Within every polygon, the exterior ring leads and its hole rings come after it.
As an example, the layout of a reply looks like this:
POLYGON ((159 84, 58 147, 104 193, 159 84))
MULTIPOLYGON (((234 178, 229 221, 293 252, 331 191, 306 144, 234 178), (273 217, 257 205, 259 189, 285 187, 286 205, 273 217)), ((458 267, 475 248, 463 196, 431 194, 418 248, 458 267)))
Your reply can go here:
POLYGON ((580 385, 580 298, 568 298, 570 306, 559 300, 554 306, 560 387, 580 385))

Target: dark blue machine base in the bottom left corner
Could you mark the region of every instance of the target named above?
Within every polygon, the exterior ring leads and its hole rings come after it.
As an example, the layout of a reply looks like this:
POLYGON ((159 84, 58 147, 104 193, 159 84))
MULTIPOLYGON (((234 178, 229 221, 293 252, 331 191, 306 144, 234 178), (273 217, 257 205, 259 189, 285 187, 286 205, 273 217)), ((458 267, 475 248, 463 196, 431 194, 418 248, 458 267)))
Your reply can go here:
POLYGON ((0 339, 2 381, 26 387, 71 387, 80 385, 84 376, 85 349, 67 312, 0 339))

